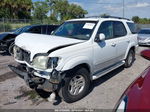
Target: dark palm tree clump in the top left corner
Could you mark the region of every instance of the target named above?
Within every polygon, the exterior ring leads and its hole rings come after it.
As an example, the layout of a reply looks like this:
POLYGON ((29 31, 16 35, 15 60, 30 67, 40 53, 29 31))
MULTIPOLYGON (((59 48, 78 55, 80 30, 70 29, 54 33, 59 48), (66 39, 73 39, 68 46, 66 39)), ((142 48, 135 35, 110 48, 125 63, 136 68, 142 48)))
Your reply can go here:
POLYGON ((32 0, 1 0, 0 17, 24 19, 30 17, 32 0))

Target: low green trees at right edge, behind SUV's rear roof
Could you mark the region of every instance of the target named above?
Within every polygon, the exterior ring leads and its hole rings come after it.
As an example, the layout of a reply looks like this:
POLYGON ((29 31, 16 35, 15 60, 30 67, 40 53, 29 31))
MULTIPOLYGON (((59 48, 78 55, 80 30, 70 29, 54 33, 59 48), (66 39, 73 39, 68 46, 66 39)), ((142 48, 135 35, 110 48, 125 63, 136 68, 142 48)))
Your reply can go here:
POLYGON ((138 16, 133 16, 132 20, 138 24, 150 24, 150 19, 148 18, 139 18, 138 16))

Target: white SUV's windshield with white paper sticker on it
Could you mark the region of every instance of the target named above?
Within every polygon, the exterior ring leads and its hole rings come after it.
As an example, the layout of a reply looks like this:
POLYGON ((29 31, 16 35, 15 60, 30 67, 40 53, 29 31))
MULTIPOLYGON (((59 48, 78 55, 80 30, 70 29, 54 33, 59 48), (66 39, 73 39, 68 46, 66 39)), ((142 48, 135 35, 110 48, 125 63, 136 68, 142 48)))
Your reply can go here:
POLYGON ((65 22, 53 33, 53 35, 72 39, 89 40, 96 23, 96 21, 65 22))

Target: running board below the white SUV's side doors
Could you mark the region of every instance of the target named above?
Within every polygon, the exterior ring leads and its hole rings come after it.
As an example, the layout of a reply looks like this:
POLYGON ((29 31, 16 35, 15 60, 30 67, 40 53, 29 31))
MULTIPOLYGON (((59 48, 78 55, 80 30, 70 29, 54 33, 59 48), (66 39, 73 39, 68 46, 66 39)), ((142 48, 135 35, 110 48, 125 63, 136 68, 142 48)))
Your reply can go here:
POLYGON ((119 62, 119 63, 117 63, 117 64, 115 64, 115 65, 113 65, 113 66, 108 67, 108 68, 105 69, 105 70, 101 70, 101 71, 99 71, 98 73, 96 73, 95 75, 93 75, 93 76, 92 76, 92 79, 93 79, 93 80, 96 80, 96 79, 102 77, 103 75, 105 75, 105 74, 111 72, 112 70, 115 70, 116 68, 118 68, 118 67, 124 65, 124 63, 125 63, 125 61, 121 61, 121 62, 119 62))

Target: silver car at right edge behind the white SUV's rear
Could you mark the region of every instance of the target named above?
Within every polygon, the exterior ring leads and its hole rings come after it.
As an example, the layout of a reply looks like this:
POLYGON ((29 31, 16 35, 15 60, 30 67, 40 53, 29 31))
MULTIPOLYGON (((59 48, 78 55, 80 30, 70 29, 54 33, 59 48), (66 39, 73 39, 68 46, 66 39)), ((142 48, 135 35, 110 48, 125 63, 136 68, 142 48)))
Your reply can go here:
POLYGON ((150 28, 143 28, 138 33, 139 45, 150 46, 150 28))

